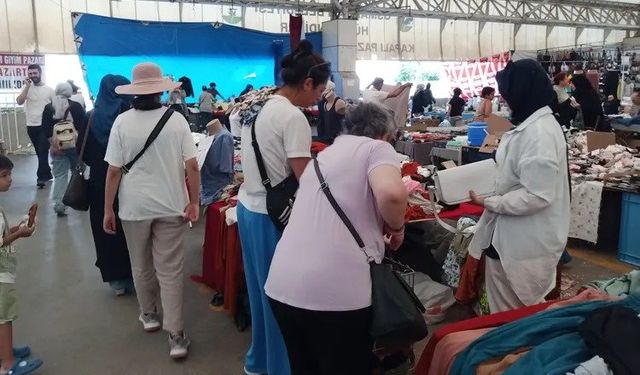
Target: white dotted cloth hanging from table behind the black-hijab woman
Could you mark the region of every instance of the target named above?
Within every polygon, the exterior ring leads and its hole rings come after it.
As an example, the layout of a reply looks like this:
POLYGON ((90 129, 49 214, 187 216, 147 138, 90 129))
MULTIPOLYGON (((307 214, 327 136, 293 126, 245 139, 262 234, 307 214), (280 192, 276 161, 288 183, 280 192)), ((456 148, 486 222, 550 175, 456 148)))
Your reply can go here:
POLYGON ((602 182, 586 181, 573 186, 569 237, 598 242, 602 182))

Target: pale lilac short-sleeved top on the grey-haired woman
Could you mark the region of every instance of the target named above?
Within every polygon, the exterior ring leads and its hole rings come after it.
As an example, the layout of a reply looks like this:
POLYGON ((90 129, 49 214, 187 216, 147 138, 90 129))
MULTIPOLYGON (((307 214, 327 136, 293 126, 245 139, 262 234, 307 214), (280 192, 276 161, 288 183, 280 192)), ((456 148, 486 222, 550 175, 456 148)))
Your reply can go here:
MULTIPOLYGON (((377 167, 400 169, 393 147, 367 137, 342 135, 318 155, 333 196, 362 237, 367 255, 384 256, 384 220, 369 176, 377 167)), ((351 311, 371 305, 367 255, 320 189, 313 166, 305 169, 289 224, 271 261, 265 293, 290 306, 351 311)))

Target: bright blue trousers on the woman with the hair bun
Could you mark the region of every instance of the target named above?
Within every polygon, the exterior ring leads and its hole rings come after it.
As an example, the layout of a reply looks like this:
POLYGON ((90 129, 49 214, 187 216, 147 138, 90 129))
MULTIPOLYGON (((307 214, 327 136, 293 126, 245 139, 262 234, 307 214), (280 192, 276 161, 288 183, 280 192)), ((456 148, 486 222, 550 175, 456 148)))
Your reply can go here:
POLYGON ((238 203, 238 229, 251 307, 251 347, 245 358, 250 372, 290 375, 289 356, 264 292, 271 260, 282 233, 268 215, 238 203))

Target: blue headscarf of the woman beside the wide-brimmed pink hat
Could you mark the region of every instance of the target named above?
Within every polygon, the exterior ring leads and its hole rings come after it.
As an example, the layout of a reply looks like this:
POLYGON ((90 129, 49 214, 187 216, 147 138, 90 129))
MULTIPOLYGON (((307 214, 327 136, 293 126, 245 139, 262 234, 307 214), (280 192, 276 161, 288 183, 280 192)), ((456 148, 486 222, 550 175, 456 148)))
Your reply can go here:
POLYGON ((123 108, 131 106, 133 96, 116 94, 116 86, 131 83, 123 76, 107 74, 100 81, 100 92, 96 99, 91 120, 91 133, 103 146, 109 142, 109 134, 116 117, 123 108))

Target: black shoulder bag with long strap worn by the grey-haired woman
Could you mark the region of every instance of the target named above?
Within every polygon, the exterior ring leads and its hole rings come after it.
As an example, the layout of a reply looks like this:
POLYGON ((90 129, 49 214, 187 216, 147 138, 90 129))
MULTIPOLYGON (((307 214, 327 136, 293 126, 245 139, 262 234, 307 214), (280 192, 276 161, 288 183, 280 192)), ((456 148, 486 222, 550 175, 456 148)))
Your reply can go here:
POLYGON ((424 339, 429 334, 427 323, 422 316, 426 309, 413 292, 413 288, 394 269, 394 265, 398 263, 385 257, 382 263, 377 264, 373 257, 367 254, 362 238, 331 194, 316 158, 313 159, 313 165, 320 180, 320 188, 367 256, 371 267, 371 337, 381 346, 411 344, 424 339))

